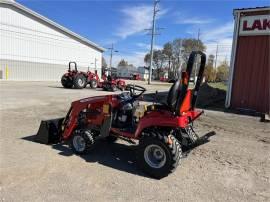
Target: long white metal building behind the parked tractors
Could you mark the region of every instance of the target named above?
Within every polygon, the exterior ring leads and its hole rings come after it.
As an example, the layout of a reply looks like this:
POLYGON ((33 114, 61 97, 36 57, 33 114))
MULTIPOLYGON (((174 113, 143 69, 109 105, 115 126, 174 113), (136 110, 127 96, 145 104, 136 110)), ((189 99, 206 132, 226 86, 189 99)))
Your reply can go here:
POLYGON ((0 79, 60 80, 69 61, 101 74, 103 51, 15 1, 0 1, 0 79))

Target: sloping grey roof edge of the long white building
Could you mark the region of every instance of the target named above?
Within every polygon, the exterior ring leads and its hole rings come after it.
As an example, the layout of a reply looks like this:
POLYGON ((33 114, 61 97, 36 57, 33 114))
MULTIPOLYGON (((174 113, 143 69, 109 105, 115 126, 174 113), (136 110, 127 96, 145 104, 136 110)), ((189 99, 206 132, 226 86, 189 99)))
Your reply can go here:
POLYGON ((96 43, 94 43, 92 41, 89 41, 88 39, 86 39, 86 38, 84 38, 84 37, 82 37, 82 36, 80 36, 80 35, 72 32, 72 31, 70 31, 69 29, 67 29, 67 28, 65 28, 65 27, 57 24, 56 22, 53 22, 52 20, 50 20, 50 19, 48 19, 48 18, 46 18, 46 17, 44 17, 44 16, 42 16, 42 15, 40 15, 40 14, 32 11, 29 8, 26 8, 25 6, 23 6, 23 5, 15 2, 13 0, 0 0, 0 5, 1 4, 6 4, 6 5, 13 6, 13 7, 15 7, 15 8, 17 8, 17 9, 23 11, 23 12, 26 12, 26 13, 28 13, 28 14, 30 14, 30 15, 38 18, 38 19, 40 19, 41 21, 43 21, 43 22, 51 25, 52 27, 55 27, 55 28, 61 30, 62 32, 64 32, 64 33, 66 33, 66 34, 74 37, 78 41, 83 42, 84 44, 86 44, 86 45, 88 45, 88 46, 90 46, 92 48, 95 48, 95 49, 97 49, 97 50, 99 50, 101 52, 104 52, 105 51, 105 49, 103 47, 97 45, 96 43))

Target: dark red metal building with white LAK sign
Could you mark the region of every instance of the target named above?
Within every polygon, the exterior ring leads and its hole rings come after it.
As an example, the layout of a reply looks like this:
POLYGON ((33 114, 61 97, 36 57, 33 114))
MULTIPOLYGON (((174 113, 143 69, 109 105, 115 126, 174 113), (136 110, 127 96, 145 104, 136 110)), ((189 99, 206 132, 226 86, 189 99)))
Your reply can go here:
POLYGON ((270 7, 234 10, 226 107, 270 113, 270 7))

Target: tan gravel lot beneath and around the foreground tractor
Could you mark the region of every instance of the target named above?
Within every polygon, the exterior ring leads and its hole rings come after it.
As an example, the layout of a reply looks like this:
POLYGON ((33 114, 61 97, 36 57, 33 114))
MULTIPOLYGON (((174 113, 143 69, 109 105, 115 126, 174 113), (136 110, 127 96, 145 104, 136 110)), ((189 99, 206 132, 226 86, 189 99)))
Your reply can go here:
POLYGON ((162 180, 144 176, 135 147, 122 141, 99 144, 84 157, 31 141, 42 119, 101 94, 56 82, 0 82, 0 201, 270 201, 270 125, 256 117, 206 111, 196 130, 216 135, 162 180))

